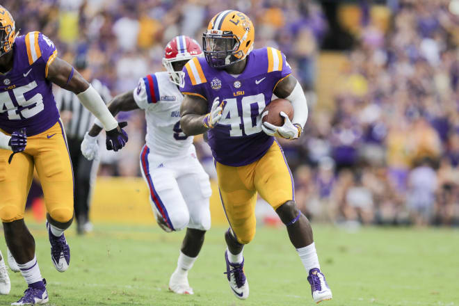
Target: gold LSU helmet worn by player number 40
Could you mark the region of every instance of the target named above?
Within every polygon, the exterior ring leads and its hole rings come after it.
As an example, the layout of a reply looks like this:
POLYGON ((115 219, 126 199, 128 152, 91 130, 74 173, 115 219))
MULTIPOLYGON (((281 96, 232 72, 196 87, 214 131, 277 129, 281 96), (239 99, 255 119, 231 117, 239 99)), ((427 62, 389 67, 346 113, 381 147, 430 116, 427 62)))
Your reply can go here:
POLYGON ((255 28, 250 18, 237 10, 224 10, 215 15, 202 35, 207 63, 223 68, 237 63, 253 49, 255 28))

